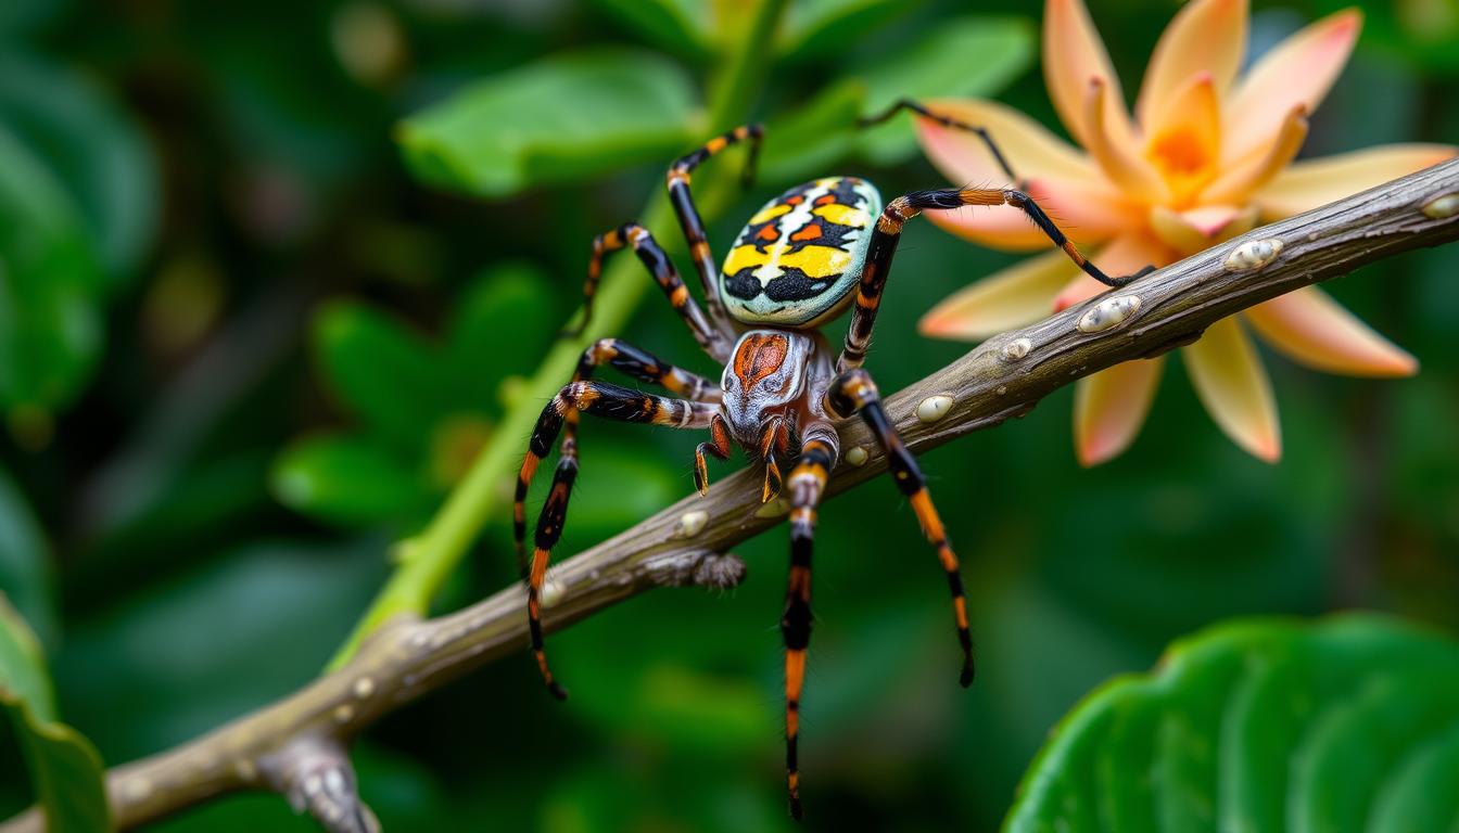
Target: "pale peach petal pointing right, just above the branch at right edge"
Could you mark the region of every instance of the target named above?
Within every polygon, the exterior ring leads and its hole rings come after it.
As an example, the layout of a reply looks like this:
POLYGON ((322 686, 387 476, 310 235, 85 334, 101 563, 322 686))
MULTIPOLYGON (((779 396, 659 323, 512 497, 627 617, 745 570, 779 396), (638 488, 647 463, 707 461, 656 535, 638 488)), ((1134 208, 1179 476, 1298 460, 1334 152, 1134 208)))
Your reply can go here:
POLYGON ((1262 217, 1277 220, 1300 214, 1437 165, 1459 155, 1453 144, 1382 144, 1352 153, 1294 162, 1261 193, 1262 217))

